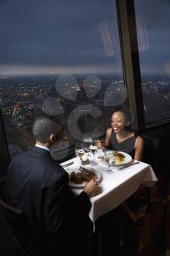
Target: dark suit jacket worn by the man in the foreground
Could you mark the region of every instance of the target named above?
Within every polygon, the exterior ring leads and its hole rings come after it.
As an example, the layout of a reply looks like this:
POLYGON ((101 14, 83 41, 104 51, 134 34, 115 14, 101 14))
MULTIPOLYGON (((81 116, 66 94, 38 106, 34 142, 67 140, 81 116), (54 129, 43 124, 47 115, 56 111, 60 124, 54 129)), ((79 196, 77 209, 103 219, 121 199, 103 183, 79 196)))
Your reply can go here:
POLYGON ((73 195, 68 173, 36 146, 10 163, 4 197, 25 212, 36 236, 47 236, 55 245, 80 236, 91 206, 85 192, 73 195))

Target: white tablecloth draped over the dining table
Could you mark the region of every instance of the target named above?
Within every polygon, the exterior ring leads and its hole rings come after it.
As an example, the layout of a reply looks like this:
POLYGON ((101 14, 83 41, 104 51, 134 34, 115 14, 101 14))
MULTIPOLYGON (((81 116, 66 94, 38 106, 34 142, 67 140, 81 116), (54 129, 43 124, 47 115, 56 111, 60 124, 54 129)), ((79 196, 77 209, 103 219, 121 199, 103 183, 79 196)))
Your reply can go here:
MULTIPOLYGON (((67 171, 73 170, 76 166, 79 166, 79 158, 71 159, 62 165, 73 162, 70 167, 66 167, 67 171)), ((104 170, 107 170, 107 165, 101 163, 96 159, 95 165, 87 165, 87 167, 93 167, 101 173, 101 194, 90 198, 92 207, 89 213, 90 219, 95 222, 98 217, 112 211, 115 207, 120 205, 124 200, 130 197, 141 184, 144 186, 152 187, 158 178, 152 170, 150 165, 144 162, 140 162, 138 165, 131 165, 123 170, 115 170, 115 173, 108 174, 104 170)), ((112 167, 111 167, 112 168, 112 167)), ((114 167, 115 168, 115 167, 114 167)), ((72 187, 72 191, 79 194, 82 189, 72 187)))

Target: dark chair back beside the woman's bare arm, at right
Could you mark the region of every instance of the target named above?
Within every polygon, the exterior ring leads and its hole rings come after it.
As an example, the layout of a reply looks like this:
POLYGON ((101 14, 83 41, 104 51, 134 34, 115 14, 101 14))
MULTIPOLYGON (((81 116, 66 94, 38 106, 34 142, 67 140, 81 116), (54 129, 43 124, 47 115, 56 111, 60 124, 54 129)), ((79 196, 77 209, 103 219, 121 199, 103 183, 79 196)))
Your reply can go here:
POLYGON ((155 170, 158 157, 158 140, 145 135, 142 135, 142 138, 144 139, 144 156, 142 161, 151 165, 153 170, 155 170))

